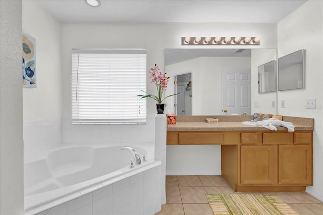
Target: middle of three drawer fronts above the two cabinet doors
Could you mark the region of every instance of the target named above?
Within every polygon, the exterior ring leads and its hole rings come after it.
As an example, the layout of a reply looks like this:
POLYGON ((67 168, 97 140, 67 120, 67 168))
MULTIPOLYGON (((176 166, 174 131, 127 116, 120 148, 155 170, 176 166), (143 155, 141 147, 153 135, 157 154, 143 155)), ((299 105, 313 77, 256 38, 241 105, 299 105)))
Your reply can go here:
POLYGON ((293 144, 294 143, 294 133, 263 133, 262 134, 263 144, 293 144))

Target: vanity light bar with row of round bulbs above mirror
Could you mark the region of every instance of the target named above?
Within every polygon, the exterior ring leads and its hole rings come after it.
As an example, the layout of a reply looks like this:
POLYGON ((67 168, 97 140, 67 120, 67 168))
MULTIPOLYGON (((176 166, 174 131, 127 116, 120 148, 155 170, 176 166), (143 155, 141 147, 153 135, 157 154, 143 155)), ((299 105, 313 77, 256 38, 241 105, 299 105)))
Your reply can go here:
POLYGON ((182 45, 259 45, 260 37, 182 37, 182 45))

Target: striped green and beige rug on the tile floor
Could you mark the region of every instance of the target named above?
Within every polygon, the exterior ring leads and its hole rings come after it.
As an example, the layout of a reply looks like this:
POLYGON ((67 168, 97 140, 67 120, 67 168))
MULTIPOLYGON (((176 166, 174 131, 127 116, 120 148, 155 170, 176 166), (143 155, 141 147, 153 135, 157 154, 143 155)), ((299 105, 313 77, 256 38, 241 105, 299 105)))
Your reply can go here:
POLYGON ((206 194, 214 215, 298 214, 275 195, 206 194))

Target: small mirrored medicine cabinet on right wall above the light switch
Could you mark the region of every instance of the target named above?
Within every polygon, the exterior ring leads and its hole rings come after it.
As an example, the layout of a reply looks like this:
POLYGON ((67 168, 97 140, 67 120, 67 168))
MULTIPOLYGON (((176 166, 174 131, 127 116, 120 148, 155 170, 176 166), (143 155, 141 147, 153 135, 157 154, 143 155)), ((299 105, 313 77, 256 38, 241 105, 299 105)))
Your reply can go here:
POLYGON ((278 59, 278 90, 304 88, 303 49, 278 59))

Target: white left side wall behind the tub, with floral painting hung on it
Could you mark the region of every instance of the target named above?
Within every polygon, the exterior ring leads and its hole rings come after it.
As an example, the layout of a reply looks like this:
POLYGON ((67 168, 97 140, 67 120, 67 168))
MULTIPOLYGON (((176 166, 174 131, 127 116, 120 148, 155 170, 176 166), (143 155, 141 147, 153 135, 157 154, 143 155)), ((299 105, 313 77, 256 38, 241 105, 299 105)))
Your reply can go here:
POLYGON ((35 1, 22 1, 22 31, 36 39, 37 88, 23 88, 25 153, 62 142, 61 23, 35 1))

